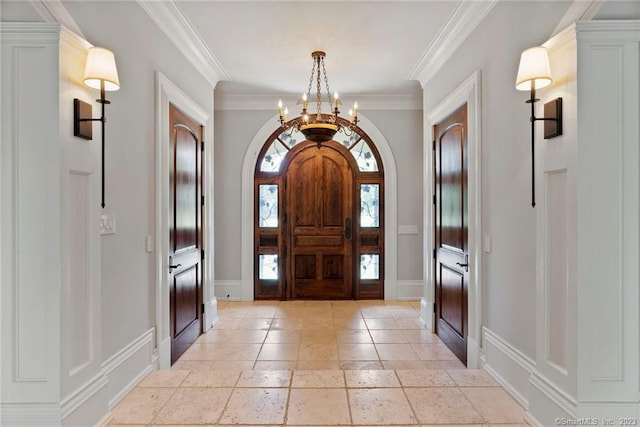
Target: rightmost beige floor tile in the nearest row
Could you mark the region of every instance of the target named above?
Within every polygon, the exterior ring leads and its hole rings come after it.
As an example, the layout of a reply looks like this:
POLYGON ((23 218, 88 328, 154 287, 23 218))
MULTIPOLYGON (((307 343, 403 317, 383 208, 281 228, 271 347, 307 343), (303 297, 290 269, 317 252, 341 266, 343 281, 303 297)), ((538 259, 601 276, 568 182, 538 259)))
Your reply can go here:
POLYGON ((499 387, 460 388, 489 423, 524 423, 524 409, 499 387))

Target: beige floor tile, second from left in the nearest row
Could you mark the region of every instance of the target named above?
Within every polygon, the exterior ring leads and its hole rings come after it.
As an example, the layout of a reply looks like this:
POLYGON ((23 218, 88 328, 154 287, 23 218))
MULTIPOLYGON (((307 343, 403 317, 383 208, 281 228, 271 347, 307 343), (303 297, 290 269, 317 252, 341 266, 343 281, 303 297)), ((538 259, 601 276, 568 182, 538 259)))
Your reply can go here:
POLYGON ((224 409, 230 388, 180 388, 153 420, 157 424, 215 423, 224 409))

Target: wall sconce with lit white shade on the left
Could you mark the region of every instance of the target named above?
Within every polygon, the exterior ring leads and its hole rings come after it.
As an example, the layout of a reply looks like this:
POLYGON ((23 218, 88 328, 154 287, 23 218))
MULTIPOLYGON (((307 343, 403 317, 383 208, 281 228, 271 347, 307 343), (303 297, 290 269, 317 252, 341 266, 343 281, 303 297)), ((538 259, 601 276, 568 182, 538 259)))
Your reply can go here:
POLYGON ((91 104, 83 102, 77 98, 73 100, 73 136, 84 139, 93 139, 92 122, 100 122, 102 129, 102 203, 104 209, 104 125, 107 118, 104 114, 105 104, 110 104, 105 98, 105 91, 120 89, 120 80, 118 79, 118 70, 116 69, 116 60, 108 49, 101 47, 92 47, 87 55, 87 64, 84 69, 84 84, 100 89, 100 99, 96 102, 102 104, 102 114, 99 118, 93 118, 91 104))

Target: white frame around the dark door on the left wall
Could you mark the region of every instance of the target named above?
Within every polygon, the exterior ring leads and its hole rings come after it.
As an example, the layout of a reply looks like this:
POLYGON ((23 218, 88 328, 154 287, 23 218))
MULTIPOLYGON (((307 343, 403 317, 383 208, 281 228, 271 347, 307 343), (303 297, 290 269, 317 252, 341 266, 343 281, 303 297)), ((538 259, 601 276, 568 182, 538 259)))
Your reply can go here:
MULTIPOLYGON (((169 104, 173 104, 204 126, 204 154, 202 163, 202 194, 205 203, 202 214, 202 249, 205 251, 202 268, 202 301, 206 332, 217 319, 217 300, 213 289, 213 119, 191 97, 156 71, 155 146, 156 146, 156 227, 155 278, 156 278, 156 348, 160 369, 171 367, 171 330, 169 312, 169 104)), ((213 96, 213 94, 211 95, 213 96)))

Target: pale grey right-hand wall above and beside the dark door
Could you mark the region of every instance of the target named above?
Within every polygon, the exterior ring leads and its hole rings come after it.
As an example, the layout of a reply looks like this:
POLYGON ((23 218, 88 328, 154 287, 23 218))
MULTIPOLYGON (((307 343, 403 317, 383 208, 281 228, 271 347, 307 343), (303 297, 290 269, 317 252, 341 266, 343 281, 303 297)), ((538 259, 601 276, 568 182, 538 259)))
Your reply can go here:
POLYGON ((430 111, 475 70, 482 71, 482 235, 492 241, 491 253, 482 254, 483 325, 531 358, 536 211, 531 208, 527 94, 514 86, 520 53, 543 43, 566 7, 552 2, 497 4, 424 87, 425 111, 430 111))

